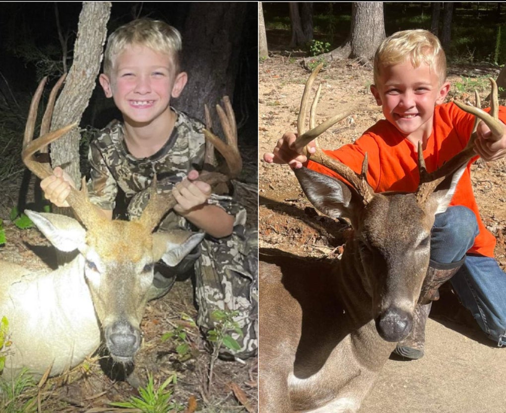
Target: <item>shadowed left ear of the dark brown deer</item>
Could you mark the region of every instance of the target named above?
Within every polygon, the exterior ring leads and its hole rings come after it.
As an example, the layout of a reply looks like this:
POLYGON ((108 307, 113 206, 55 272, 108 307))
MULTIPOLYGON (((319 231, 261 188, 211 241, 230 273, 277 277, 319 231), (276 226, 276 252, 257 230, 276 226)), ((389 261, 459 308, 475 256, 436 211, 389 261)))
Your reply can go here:
POLYGON ((308 168, 295 169, 294 173, 309 201, 331 218, 343 216, 354 221, 363 207, 362 203, 355 202, 357 197, 353 196, 352 189, 339 179, 308 168))

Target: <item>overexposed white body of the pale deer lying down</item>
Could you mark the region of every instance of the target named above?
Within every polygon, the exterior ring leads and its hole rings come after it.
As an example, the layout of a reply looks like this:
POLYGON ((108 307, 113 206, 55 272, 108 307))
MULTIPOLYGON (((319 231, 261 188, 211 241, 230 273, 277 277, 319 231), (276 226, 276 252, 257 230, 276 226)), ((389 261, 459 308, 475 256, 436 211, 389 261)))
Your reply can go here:
POLYGON ((51 375, 58 375, 100 345, 95 309, 82 277, 30 274, 13 283, 2 300, 0 315, 9 321, 12 341, 6 375, 26 367, 39 376, 51 364, 51 375))

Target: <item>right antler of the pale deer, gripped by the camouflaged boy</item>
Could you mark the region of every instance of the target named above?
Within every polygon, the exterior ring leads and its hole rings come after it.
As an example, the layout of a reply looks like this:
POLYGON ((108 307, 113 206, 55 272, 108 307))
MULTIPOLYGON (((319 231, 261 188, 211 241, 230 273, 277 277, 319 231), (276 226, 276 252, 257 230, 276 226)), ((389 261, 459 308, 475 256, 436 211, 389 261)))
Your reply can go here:
MULTIPOLYGON (((213 189, 220 183, 227 182, 239 175, 242 169, 242 160, 237 148, 237 126, 235 122, 234 112, 228 96, 223 98, 225 110, 220 105, 216 105, 216 110, 220 117, 222 129, 225 133, 227 143, 223 142, 218 136, 214 135, 207 129, 203 132, 206 137, 205 162, 212 163, 210 158, 214 158, 214 147, 223 155, 226 165, 223 172, 203 171, 198 180, 208 183, 213 189)), ((211 126, 209 111, 207 106, 206 125, 211 126)), ((176 205, 176 200, 172 193, 157 194, 156 193, 156 177, 151 184, 151 194, 149 203, 144 209, 141 220, 146 226, 154 228, 168 210, 176 205)))

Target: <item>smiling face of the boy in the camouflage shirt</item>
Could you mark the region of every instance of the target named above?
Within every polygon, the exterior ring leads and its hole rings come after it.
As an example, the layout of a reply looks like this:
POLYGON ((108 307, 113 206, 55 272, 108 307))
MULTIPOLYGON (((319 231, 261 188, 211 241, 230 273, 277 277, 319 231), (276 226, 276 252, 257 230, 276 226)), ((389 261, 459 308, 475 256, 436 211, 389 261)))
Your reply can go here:
POLYGON ((185 72, 175 73, 170 56, 141 45, 127 47, 116 58, 110 77, 99 77, 105 96, 114 99, 125 122, 136 125, 159 119, 186 80, 185 72))

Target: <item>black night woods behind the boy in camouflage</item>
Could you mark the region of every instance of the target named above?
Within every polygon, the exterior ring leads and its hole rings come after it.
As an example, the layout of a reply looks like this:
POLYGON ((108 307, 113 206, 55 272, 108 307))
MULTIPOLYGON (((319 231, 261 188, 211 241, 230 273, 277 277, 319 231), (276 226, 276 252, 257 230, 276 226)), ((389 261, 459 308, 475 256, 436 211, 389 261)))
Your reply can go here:
MULTIPOLYGON (((217 4, 207 3, 204 8, 208 8, 211 12, 215 5, 217 4)), ((81 6, 80 2, 9 2, 2 4, 0 12, 0 47, 2 49, 0 59, 0 135, 4 133, 6 128, 10 131, 15 129, 16 125, 19 126, 22 133, 29 100, 38 81, 46 74, 55 79, 62 72, 62 47, 58 38, 56 9, 59 14, 61 32, 64 35, 69 35, 67 45, 70 61, 68 66, 71 66, 71 50, 75 41, 81 6)), ((192 6, 194 6, 193 3, 112 2, 107 34, 135 17, 163 20, 182 32, 184 55, 184 30, 185 25, 191 24, 187 17, 190 15, 192 6)), ((239 133, 239 140, 247 145, 257 146, 257 3, 242 3, 242 7, 244 7, 243 14, 237 19, 238 22, 243 21, 244 23, 241 29, 240 50, 236 55, 238 64, 234 79, 233 103, 237 122, 243 122, 242 130, 248 131, 247 133, 239 133), (244 109, 248 113, 247 118, 240 115, 244 113, 244 109)), ((206 15, 207 13, 204 13, 203 18, 206 18, 206 15)), ((188 42, 188 39, 186 40, 188 42)), ((203 47, 205 49, 205 45, 203 47)), ((183 68, 189 72, 190 76, 192 75, 191 67, 183 68)), ((212 68, 209 68, 208 74, 209 76, 213 75, 212 68)), ((177 100, 172 103, 179 108, 177 100)), ((185 110, 185 108, 180 109, 185 110)), ((200 118, 198 114, 190 114, 200 118)), ((82 117, 81 127, 102 128, 114 117, 120 117, 120 114, 115 110, 112 99, 105 100, 103 91, 97 82, 89 107, 82 117)), ((0 136, 0 143, 3 142, 0 136)), ((15 150, 13 149, 13 151, 15 150)), ((12 156, 12 152, 9 156, 12 156)), ((0 162, 3 162, 2 158, 2 152, 0 152, 0 162)), ((0 177, 1 179, 2 177, 0 177)))

